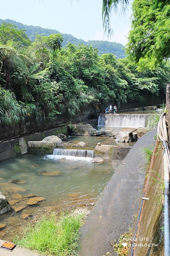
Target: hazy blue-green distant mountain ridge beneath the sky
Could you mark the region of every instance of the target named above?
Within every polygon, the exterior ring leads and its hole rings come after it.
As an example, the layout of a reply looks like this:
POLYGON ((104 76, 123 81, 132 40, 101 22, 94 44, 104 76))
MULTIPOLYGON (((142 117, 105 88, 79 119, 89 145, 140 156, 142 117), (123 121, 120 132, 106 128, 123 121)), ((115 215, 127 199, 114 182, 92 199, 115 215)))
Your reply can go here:
POLYGON ((70 34, 62 34, 56 29, 45 29, 38 26, 27 26, 27 25, 24 25, 23 23, 20 23, 14 20, 9 20, 9 19, 6 19, 6 20, 0 19, 0 24, 2 24, 3 21, 5 21, 6 23, 12 23, 16 27, 18 27, 18 29, 26 30, 25 33, 30 38, 31 41, 35 40, 36 34, 44 35, 44 36, 48 36, 51 34, 61 34, 63 35, 63 39, 64 39, 62 43, 63 47, 65 47, 65 45, 68 42, 76 45, 78 44, 84 44, 88 46, 91 45, 94 48, 98 48, 99 55, 103 53, 112 53, 115 55, 116 58, 125 58, 124 46, 120 43, 109 42, 109 41, 96 41, 96 40, 89 40, 86 42, 83 39, 78 39, 76 37, 73 37, 70 34))

